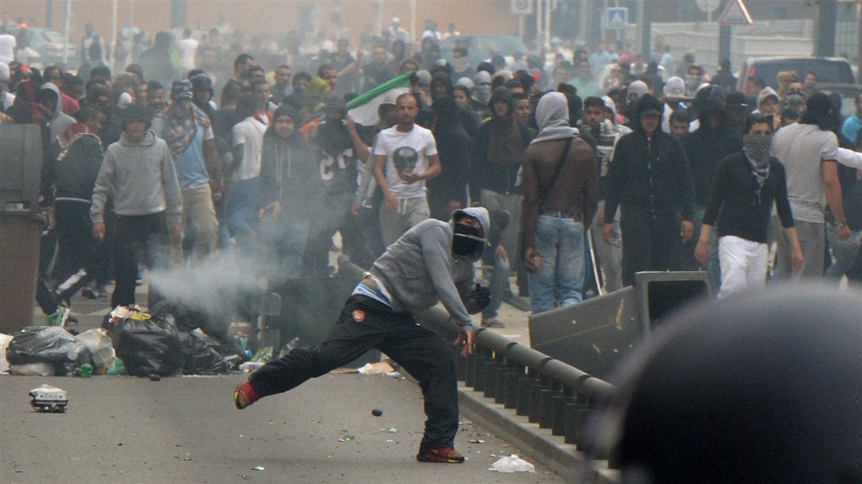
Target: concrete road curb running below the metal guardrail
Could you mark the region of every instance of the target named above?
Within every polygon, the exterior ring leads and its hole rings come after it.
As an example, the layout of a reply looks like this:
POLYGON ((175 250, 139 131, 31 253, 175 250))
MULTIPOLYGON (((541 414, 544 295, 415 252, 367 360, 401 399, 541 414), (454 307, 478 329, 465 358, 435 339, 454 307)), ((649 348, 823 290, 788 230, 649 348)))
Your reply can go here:
MULTIPOLYGON (((551 429, 530 423, 526 416, 517 415, 514 408, 496 403, 484 393, 466 387, 464 382, 458 385, 460 411, 465 418, 502 437, 566 481, 576 482, 583 477, 585 457, 574 444, 565 444, 562 436, 552 435, 551 429)), ((599 465, 607 468, 606 462, 599 465)), ((603 470, 596 475, 595 482, 616 484, 619 475, 616 471, 603 470)))

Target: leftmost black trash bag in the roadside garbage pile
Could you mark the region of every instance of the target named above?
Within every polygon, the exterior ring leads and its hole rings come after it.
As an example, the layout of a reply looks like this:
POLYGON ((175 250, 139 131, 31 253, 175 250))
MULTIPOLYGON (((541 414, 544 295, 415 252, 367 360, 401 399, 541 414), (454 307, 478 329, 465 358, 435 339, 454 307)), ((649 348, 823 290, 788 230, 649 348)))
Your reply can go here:
POLYGON ((60 326, 28 326, 15 334, 6 350, 9 364, 53 363, 54 374, 72 376, 84 363, 92 364, 90 350, 60 326))

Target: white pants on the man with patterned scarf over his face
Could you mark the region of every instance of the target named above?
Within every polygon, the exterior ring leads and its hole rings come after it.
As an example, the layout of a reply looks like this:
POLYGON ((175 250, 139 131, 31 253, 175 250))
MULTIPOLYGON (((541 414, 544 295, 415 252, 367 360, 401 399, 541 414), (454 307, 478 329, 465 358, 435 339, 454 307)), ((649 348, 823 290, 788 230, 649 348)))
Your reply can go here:
POLYGON ((721 290, 718 297, 746 290, 763 289, 766 284, 766 262, 769 246, 734 235, 718 239, 718 261, 721 264, 721 290))

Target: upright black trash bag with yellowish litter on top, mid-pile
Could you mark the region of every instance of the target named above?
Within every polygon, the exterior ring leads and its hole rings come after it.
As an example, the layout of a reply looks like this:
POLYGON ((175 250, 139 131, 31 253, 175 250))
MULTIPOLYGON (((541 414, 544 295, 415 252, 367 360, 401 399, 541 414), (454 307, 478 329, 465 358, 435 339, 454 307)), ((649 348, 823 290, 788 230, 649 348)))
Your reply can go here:
POLYGON ((114 326, 111 339, 129 375, 172 376, 183 368, 183 348, 170 313, 134 314, 114 326))

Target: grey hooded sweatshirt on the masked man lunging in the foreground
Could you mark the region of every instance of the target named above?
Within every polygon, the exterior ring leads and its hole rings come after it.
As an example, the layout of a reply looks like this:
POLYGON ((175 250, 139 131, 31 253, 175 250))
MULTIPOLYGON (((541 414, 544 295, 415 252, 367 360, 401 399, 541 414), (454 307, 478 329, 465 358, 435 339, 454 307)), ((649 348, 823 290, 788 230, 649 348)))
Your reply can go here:
MULTIPOLYGON (((464 213, 479 220, 482 232, 490 230, 485 208, 464 208, 464 213)), ((414 226, 397 239, 372 267, 371 273, 384 283, 392 296, 392 309, 422 313, 443 303, 449 315, 462 328, 472 330, 470 314, 481 311, 470 299, 473 290, 473 263, 482 257, 484 246, 466 257, 452 252, 454 220, 429 219, 414 226)))

